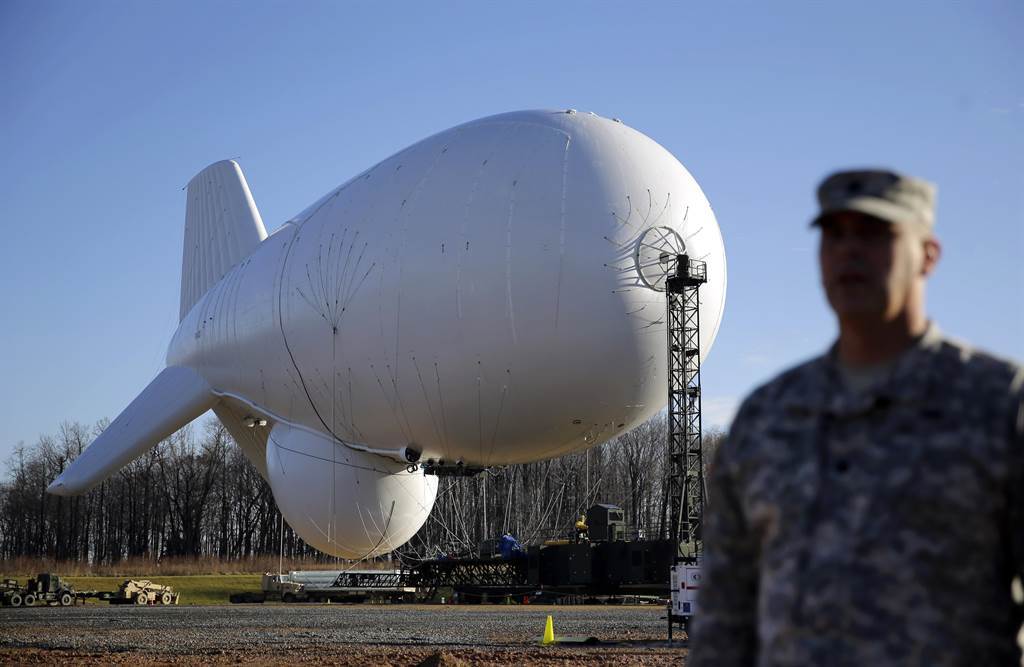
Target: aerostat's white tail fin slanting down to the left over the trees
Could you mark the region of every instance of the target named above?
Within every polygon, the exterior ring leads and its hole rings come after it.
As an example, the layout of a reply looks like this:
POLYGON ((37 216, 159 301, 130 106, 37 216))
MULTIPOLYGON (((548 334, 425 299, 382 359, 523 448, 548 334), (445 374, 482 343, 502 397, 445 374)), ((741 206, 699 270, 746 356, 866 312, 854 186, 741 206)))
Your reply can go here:
POLYGON ((46 491, 57 496, 87 492, 216 402, 196 371, 165 368, 46 491))

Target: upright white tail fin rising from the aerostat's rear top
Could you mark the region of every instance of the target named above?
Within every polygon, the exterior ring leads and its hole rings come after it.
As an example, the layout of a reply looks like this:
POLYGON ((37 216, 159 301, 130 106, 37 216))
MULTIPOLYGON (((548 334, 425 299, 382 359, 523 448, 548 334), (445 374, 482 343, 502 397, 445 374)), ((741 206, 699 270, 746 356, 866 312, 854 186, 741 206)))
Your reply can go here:
POLYGON ((221 160, 196 174, 185 202, 178 319, 265 238, 266 227, 239 163, 221 160))

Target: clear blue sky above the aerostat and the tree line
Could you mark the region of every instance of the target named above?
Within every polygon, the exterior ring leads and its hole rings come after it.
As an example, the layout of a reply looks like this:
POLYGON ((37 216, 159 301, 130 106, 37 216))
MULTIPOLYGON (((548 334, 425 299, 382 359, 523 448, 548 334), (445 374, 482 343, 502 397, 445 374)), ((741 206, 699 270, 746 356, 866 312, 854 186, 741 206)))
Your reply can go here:
POLYGON ((1024 4, 0 2, 0 460, 115 417, 177 325, 184 193, 237 158, 268 228, 504 111, 622 118, 703 187, 729 257, 705 423, 835 335, 817 181, 939 184, 943 329, 1024 359, 1024 4))

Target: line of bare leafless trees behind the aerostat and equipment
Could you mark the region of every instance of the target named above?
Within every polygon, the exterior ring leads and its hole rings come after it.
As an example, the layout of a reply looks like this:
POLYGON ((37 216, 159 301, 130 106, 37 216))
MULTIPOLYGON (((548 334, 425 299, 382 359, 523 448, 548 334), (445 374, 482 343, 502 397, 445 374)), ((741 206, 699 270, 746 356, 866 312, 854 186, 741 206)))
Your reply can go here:
MULTIPOLYGON (((269 485, 220 422, 187 426, 80 497, 47 485, 104 427, 63 423, 19 446, 0 482, 0 559, 44 556, 93 565, 133 558, 276 555, 328 560, 282 522, 269 485)), ((399 549, 406 555, 475 551, 510 533, 523 543, 567 535, 594 503, 620 505, 633 534, 666 533, 666 420, 657 415, 588 452, 441 477, 434 509, 399 549)), ((705 436, 706 462, 722 433, 705 436)))

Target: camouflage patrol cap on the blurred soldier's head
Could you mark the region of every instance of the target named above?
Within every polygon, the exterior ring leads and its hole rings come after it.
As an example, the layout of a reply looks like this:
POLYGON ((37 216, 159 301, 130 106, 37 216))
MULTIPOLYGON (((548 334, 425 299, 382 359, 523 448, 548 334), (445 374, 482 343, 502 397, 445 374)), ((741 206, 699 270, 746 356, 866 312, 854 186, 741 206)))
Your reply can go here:
POLYGON ((837 171, 818 185, 821 212, 811 221, 842 211, 857 211, 894 223, 935 224, 935 185, 886 169, 837 171))

